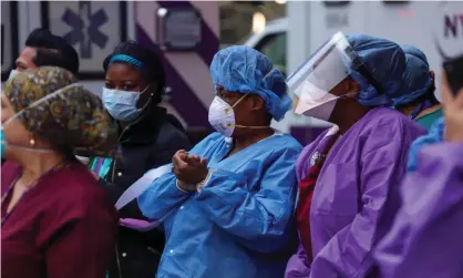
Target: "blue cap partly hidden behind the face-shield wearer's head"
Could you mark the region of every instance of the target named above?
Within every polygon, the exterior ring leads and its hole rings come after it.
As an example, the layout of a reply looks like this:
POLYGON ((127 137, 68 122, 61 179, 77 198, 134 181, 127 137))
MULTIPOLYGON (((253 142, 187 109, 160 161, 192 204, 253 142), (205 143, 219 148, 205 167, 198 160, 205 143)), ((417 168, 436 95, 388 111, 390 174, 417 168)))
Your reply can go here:
POLYGON ((394 97, 394 106, 411 103, 429 92, 433 80, 424 53, 412 45, 402 45, 407 56, 401 94, 394 97))

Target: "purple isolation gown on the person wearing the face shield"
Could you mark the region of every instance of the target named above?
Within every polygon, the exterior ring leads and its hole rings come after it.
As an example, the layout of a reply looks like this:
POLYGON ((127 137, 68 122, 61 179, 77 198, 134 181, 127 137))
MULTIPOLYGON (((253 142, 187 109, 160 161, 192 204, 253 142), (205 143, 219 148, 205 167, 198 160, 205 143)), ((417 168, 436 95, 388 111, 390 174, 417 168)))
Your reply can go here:
MULTIPOLYGON (((335 127, 336 128, 336 127, 335 127)), ((306 146, 298 181, 306 177, 331 128, 306 146)), ((425 130, 397 111, 369 111, 332 146, 310 209, 312 257, 302 246, 288 261, 286 278, 363 277, 372 248, 387 234, 400 207, 399 185, 411 143, 425 130)), ((309 217, 309 216, 308 216, 309 217)))

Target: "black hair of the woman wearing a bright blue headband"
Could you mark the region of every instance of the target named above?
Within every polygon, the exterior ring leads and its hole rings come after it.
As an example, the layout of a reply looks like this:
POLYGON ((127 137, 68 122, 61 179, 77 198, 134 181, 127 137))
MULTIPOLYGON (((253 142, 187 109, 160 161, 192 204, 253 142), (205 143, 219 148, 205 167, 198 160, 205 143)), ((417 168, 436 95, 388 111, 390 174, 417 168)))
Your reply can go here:
MULTIPOLYGON (((107 71, 107 66, 110 64, 110 60, 113 55, 116 54, 125 54, 131 58, 134 58, 143 63, 143 68, 141 70, 143 79, 147 83, 156 82, 156 93, 153 99, 153 104, 157 105, 164 94, 164 86, 165 86, 165 72, 164 65, 162 63, 161 58, 151 49, 135 42, 135 41, 125 41, 121 42, 103 62, 104 71, 107 71)), ((117 61, 120 62, 120 61, 117 61)), ((124 62, 120 62, 124 63, 124 62)), ((127 64, 131 64, 127 62, 127 64)), ((132 64, 131 64, 132 65, 132 64)))

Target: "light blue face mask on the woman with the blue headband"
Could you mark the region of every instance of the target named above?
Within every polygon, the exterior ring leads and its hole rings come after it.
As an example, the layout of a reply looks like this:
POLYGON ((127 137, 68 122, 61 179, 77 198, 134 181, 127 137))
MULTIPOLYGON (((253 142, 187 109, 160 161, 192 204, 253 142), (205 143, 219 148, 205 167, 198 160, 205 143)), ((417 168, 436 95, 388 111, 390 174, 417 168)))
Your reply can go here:
POLYGON ((145 105, 141 109, 136 107, 136 103, 140 100, 140 95, 142 95, 146 90, 150 87, 146 86, 145 90, 142 92, 130 92, 130 91, 122 91, 115 89, 107 89, 103 87, 102 101, 104 107, 107 110, 110 115, 117 121, 128 122, 135 120, 140 114, 142 114, 143 110, 150 103, 150 100, 145 103, 145 105))

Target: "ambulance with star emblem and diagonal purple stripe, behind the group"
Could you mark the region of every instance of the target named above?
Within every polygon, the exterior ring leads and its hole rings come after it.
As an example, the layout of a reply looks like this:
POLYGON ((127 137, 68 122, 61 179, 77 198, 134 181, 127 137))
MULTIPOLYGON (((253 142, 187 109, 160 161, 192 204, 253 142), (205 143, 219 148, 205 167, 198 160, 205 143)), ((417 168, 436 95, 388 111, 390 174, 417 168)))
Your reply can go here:
POLYGON ((166 72, 162 105, 187 127, 193 143, 212 132, 209 64, 219 45, 218 2, 1 1, 2 82, 29 33, 40 27, 75 48, 81 83, 95 93, 104 85, 103 60, 121 41, 153 49, 166 72))

